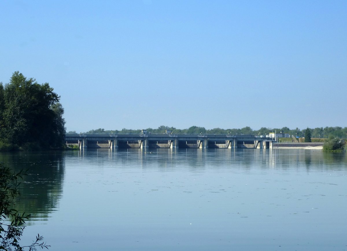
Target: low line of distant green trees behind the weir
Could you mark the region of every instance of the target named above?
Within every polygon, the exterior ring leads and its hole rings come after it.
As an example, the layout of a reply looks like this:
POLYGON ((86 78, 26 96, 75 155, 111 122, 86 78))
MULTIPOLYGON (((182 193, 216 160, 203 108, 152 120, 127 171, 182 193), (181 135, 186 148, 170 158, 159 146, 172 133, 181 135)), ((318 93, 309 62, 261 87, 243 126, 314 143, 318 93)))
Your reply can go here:
MULTIPOLYGON (((338 138, 347 138, 347 127, 317 127, 317 128, 309 128, 311 130, 311 137, 312 138, 328 138, 329 136, 334 136, 338 138)), ((294 137, 304 137, 306 129, 300 130, 299 128, 295 129, 289 129, 288 127, 282 127, 282 128, 266 128, 262 127, 259 130, 253 130, 250 127, 244 127, 241 129, 221 129, 221 128, 214 128, 214 129, 205 129, 204 127, 197 127, 192 126, 188 129, 177 129, 175 127, 168 127, 168 126, 160 126, 157 129, 153 128, 146 128, 147 133, 165 133, 166 130, 170 130, 172 133, 176 134, 199 134, 199 133, 205 133, 205 134, 230 134, 230 135, 245 135, 245 134, 251 134, 251 135, 268 135, 270 132, 277 132, 277 133, 289 133, 290 136, 294 137)), ((71 133, 79 133, 76 131, 69 131, 68 134, 71 133)), ((103 128, 99 128, 96 130, 90 130, 83 133, 141 133, 141 129, 126 129, 123 128, 122 130, 105 130, 103 128)))

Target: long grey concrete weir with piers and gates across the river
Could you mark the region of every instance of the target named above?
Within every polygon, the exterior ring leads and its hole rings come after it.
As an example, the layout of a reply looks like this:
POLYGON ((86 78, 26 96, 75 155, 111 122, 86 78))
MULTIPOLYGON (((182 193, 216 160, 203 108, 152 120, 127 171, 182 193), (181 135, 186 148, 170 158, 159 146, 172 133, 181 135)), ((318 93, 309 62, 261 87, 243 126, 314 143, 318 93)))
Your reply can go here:
POLYGON ((255 148, 272 147, 272 138, 217 134, 67 134, 67 145, 85 148, 255 148))

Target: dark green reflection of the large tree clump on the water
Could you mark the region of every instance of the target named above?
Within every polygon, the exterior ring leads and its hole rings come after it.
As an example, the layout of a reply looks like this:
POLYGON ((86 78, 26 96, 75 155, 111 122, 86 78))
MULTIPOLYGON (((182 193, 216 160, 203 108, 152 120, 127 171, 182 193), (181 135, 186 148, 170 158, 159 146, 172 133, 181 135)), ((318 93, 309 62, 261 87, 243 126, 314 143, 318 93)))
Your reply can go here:
POLYGON ((0 162, 16 172, 28 170, 23 176, 17 210, 38 220, 47 219, 58 209, 65 172, 62 152, 0 153, 0 162))

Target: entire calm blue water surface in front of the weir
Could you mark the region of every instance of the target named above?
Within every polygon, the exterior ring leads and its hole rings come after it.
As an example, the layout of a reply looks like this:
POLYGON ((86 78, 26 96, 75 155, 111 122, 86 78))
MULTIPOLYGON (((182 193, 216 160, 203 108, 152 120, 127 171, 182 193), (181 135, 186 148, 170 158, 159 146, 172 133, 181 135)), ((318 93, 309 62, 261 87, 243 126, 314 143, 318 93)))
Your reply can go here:
POLYGON ((1 153, 50 250, 347 250, 347 158, 320 150, 1 153))

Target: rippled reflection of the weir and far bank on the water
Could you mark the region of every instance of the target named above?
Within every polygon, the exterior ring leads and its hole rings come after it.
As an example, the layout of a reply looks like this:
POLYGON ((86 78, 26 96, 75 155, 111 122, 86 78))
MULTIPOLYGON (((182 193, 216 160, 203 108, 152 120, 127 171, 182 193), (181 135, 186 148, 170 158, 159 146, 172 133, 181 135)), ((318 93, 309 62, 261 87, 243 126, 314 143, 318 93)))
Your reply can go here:
POLYGON ((85 160, 115 161, 116 166, 141 165, 142 168, 175 168, 184 164, 196 172, 206 168, 237 168, 244 171, 254 167, 290 170, 345 168, 344 153, 323 153, 321 150, 303 149, 87 149, 78 152, 85 160), (136 162, 136 163, 135 163, 136 162))

